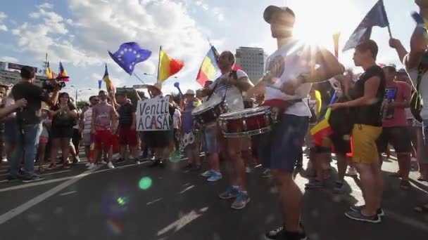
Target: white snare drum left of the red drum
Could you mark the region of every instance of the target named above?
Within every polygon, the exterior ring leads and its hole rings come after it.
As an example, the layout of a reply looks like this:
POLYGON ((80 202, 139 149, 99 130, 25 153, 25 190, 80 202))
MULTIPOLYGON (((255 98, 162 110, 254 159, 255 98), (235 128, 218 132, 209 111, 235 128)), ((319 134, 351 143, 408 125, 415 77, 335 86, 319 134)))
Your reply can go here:
POLYGON ((208 101, 193 109, 191 114, 197 124, 204 125, 216 121, 225 112, 227 112, 227 103, 217 95, 212 95, 208 101))

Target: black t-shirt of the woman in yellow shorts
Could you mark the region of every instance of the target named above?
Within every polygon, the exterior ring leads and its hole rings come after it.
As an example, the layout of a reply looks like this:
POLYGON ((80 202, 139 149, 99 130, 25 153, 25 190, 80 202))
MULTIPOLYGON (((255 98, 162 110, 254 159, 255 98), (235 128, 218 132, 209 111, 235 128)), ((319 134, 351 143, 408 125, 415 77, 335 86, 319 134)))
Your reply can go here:
POLYGON ((382 100, 384 99, 386 82, 384 70, 382 70, 382 67, 374 65, 361 74, 360 79, 358 79, 353 89, 351 89, 351 97, 353 99, 363 97, 365 81, 370 79, 372 76, 379 76, 380 78, 380 84, 379 88, 377 89, 376 97, 374 98, 372 105, 365 105, 354 108, 354 123, 370 126, 382 126, 381 107, 382 100))

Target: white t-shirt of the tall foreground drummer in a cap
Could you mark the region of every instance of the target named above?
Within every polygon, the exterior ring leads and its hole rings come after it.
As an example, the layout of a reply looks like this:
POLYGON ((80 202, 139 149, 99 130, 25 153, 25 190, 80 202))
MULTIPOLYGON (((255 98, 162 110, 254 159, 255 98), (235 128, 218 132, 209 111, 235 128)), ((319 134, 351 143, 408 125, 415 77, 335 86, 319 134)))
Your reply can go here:
MULTIPOLYGON (((296 89, 295 95, 282 93, 278 88, 285 82, 296 79, 301 74, 309 73, 310 67, 314 65, 316 52, 316 47, 293 39, 275 51, 275 53, 272 53, 266 60, 266 71, 270 73, 272 80, 268 80, 266 84, 265 100, 298 100, 306 98, 312 84, 302 84, 296 89)), ((307 102, 304 101, 291 105, 284 114, 311 116, 307 102)))

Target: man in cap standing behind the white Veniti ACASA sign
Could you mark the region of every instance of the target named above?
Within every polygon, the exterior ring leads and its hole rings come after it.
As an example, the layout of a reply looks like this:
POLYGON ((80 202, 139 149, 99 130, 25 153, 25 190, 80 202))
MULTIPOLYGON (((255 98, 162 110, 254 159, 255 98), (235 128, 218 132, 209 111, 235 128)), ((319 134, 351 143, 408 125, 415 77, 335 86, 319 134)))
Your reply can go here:
MULTIPOLYGON (((163 98, 162 84, 156 82, 156 84, 147 86, 149 95, 151 98, 163 98)), ((168 103, 169 112, 173 112, 175 105, 168 103)), ((172 122, 172 118, 170 119, 172 122)), ((172 140, 170 131, 144 131, 143 138, 146 140, 147 145, 154 149, 156 159, 151 164, 151 167, 159 166, 160 168, 165 167, 165 160, 168 158, 168 147, 172 140)))

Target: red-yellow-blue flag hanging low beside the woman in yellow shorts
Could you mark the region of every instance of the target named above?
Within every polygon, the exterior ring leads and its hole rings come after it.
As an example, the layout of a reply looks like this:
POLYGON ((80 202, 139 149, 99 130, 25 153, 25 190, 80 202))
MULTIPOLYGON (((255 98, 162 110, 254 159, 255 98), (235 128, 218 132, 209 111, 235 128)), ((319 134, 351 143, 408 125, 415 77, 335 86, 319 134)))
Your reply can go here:
MULTIPOLYGON (((334 93, 330 105, 336 102, 336 93, 334 93)), ((328 140, 329 135, 332 135, 333 129, 329 124, 329 117, 332 113, 332 109, 329 107, 325 116, 321 119, 313 128, 310 128, 310 135, 313 137, 313 144, 316 146, 325 146, 326 140, 328 140)))

